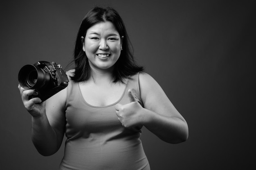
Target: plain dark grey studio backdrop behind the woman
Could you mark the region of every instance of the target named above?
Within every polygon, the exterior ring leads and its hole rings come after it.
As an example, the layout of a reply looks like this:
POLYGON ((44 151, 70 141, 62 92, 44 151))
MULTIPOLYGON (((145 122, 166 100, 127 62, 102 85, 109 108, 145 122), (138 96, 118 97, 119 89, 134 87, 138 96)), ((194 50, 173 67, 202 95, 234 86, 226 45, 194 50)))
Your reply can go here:
POLYGON ((79 24, 97 4, 120 13, 137 62, 189 124, 189 139, 175 145, 143 129, 151 169, 255 167, 255 0, 4 0, 0 169, 58 168, 64 145, 43 157, 31 142, 31 116, 20 99, 18 72, 41 60, 65 68, 79 24))

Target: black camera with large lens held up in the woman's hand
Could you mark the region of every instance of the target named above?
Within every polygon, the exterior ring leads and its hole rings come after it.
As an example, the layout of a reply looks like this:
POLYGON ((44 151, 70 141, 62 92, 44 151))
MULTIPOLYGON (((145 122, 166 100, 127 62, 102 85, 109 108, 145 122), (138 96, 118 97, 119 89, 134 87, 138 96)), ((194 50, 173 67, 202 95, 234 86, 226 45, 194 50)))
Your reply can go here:
POLYGON ((68 85, 68 78, 61 65, 47 61, 38 61, 24 65, 18 74, 20 86, 24 89, 34 89, 42 102, 65 89, 68 85))

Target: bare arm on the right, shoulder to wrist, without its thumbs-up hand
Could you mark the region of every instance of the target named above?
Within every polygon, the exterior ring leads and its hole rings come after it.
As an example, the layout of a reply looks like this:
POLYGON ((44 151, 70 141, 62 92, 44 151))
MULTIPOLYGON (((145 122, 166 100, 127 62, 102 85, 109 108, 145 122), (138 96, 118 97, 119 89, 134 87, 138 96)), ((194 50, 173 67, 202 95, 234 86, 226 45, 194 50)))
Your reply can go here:
POLYGON ((148 74, 139 75, 144 126, 168 143, 186 141, 189 135, 186 120, 168 99, 160 85, 148 74))

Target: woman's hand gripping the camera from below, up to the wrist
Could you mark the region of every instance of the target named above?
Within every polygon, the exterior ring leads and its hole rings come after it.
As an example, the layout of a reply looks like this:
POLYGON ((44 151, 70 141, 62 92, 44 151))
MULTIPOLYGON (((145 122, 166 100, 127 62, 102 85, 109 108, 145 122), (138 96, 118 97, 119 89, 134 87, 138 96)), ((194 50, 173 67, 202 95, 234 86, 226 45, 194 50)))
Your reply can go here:
POLYGON ((18 85, 18 89, 20 90, 21 99, 23 105, 27 109, 27 111, 34 118, 40 118, 43 114, 45 114, 45 102, 38 97, 31 98, 32 96, 37 96, 38 93, 32 89, 24 89, 18 85))

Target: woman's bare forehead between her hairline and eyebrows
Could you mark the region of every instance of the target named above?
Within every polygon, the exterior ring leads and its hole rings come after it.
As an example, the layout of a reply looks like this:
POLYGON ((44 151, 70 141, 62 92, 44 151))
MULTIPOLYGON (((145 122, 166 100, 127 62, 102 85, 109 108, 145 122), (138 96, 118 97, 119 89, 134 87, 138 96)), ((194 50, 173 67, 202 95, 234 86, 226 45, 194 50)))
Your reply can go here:
POLYGON ((106 21, 106 22, 98 22, 97 24, 94 24, 90 28, 88 28, 86 35, 97 33, 99 35, 102 34, 117 34, 119 35, 117 29, 115 28, 114 24, 112 22, 106 21))

